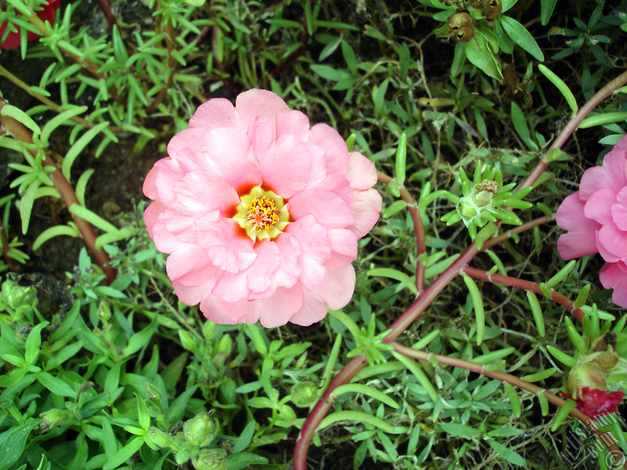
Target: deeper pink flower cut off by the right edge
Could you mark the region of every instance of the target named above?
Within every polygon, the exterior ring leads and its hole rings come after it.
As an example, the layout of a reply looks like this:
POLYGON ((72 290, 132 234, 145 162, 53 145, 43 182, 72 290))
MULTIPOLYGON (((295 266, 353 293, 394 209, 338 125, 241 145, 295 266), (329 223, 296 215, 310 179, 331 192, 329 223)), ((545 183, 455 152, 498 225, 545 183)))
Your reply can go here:
POLYGON ((612 300, 627 307, 627 136, 586 170, 579 191, 557 209, 557 225, 567 231, 557 240, 564 259, 600 253, 606 261, 599 279, 613 289, 612 300))

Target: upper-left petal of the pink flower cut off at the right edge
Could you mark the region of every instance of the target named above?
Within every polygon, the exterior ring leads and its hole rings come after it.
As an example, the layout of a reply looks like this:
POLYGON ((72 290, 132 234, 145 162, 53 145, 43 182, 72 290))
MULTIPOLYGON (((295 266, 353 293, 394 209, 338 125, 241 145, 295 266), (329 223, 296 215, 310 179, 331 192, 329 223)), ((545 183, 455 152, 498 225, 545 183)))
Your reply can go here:
POLYGON ((625 150, 612 150, 603 158, 602 167, 587 169, 581 177, 579 197, 587 201, 601 189, 618 193, 627 182, 627 158, 625 150))

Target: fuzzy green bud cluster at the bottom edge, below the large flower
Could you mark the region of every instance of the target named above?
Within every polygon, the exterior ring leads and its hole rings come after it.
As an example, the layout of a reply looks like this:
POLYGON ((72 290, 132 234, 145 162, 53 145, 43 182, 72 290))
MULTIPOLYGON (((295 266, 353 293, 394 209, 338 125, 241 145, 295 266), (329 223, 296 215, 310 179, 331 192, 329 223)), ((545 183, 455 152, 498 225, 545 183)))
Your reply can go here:
POLYGON ((207 448, 219 429, 218 421, 212 415, 213 410, 198 414, 186 422, 172 426, 169 432, 150 427, 148 435, 157 446, 170 447, 176 452, 178 465, 191 461, 196 470, 226 470, 227 452, 220 448, 207 448))

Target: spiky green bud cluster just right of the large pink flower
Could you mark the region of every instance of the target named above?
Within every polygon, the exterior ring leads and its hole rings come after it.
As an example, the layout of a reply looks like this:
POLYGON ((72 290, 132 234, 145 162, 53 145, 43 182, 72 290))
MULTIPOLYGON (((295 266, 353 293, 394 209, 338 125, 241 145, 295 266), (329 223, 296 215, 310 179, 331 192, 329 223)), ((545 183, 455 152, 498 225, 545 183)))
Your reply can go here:
POLYGON ((507 207, 514 209, 532 207, 530 202, 522 201, 522 198, 531 191, 531 187, 520 189, 512 194, 509 191, 516 184, 511 183, 503 186, 501 171, 491 168, 489 165, 482 171, 482 164, 478 162, 472 181, 460 168, 460 179, 463 196, 457 202, 455 211, 445 214, 441 221, 446 222, 446 225, 463 221, 473 240, 477 236, 477 227, 483 227, 488 222, 496 222, 497 219, 507 224, 522 224, 519 217, 507 207))

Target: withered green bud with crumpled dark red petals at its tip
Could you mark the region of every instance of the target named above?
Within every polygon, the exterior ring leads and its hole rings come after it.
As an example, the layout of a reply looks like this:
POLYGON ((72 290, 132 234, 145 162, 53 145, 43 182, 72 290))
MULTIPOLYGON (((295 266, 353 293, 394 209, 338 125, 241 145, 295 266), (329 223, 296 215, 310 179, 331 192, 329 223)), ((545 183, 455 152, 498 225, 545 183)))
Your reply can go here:
POLYGON ((616 333, 608 331, 594 338, 587 354, 579 356, 568 377, 569 394, 562 394, 575 400, 583 414, 597 419, 616 411, 616 405, 623 400, 619 382, 607 379, 626 371, 627 360, 616 354, 616 333))

